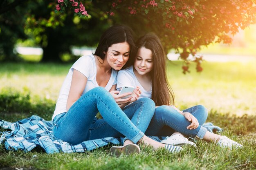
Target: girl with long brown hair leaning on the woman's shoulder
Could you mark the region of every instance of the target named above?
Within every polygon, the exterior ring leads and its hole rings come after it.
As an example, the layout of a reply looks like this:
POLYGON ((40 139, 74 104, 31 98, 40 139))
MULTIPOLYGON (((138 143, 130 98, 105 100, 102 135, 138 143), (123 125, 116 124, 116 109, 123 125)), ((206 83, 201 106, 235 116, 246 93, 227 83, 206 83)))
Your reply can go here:
POLYGON ((134 65, 117 76, 117 89, 121 86, 139 86, 141 97, 153 99, 157 108, 146 130, 146 135, 164 135, 161 143, 182 145, 195 144, 184 136, 196 137, 206 141, 215 141, 220 146, 242 147, 231 139, 207 131, 202 124, 207 119, 207 109, 198 105, 180 111, 174 106, 174 95, 166 77, 166 55, 159 38, 154 34, 141 37, 134 65), (171 106, 169 106, 171 105, 171 106), (182 135, 183 134, 183 135, 182 135))

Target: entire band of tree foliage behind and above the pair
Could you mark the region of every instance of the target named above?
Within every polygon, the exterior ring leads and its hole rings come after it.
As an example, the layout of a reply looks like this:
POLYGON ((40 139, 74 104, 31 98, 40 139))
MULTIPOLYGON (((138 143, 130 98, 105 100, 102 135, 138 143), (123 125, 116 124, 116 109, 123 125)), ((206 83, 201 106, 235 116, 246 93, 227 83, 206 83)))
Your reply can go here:
POLYGON ((1 1, 0 60, 13 60, 13 46, 18 39, 29 39, 42 47, 41 61, 61 61, 63 55, 76 59, 71 46, 96 46, 103 31, 112 24, 122 23, 132 27, 136 38, 155 32, 166 52, 175 49, 180 53, 185 61, 184 73, 189 72, 188 56, 193 55, 192 61, 200 72, 202 57, 196 53, 201 46, 230 43, 231 35, 256 22, 255 0, 83 0, 82 11, 88 12, 87 17, 79 14, 81 7, 76 9, 76 2, 1 1), (9 9, 13 3, 15 8, 9 9), (60 12, 56 11, 56 5, 60 12))

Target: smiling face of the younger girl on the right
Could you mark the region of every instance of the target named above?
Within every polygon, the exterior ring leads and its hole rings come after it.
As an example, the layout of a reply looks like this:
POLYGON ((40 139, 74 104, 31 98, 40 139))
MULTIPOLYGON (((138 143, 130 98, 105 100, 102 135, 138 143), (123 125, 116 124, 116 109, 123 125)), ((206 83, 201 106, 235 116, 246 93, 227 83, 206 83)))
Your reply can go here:
POLYGON ((134 68, 140 75, 146 75, 153 70, 153 54, 150 49, 139 48, 134 62, 134 68))

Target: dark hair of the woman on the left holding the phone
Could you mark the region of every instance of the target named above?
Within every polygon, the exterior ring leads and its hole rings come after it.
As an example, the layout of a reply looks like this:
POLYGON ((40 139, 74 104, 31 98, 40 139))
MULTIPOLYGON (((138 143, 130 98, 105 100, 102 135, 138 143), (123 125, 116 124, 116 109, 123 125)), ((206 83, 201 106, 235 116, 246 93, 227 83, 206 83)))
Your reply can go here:
POLYGON ((103 33, 103 35, 101 35, 101 39, 99 40, 99 44, 94 52, 94 55, 99 56, 103 60, 105 58, 104 52, 108 51, 108 47, 110 47, 112 44, 121 42, 127 42, 129 44, 131 54, 135 47, 133 34, 132 29, 130 29, 128 26, 111 26, 103 33))

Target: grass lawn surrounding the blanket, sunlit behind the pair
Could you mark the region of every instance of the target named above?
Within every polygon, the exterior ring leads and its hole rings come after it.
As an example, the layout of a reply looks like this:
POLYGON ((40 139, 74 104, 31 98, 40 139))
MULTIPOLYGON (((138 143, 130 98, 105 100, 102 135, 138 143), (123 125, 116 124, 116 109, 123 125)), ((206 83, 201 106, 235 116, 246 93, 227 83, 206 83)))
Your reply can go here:
MULTIPOLYGON (((51 119, 61 84, 72 64, 0 63, 0 119, 16 121, 31 115, 51 119)), ((168 79, 176 106, 184 109, 202 104, 207 121, 224 129, 243 144, 239 150, 222 149, 198 141, 178 154, 141 146, 140 155, 110 157, 110 146, 85 153, 47 155, 39 149, 24 153, 0 146, 0 169, 251 169, 256 167, 256 60, 251 62, 204 62, 204 71, 183 75, 182 62, 168 63, 168 79)), ((0 128, 0 131, 3 129, 0 128)))

